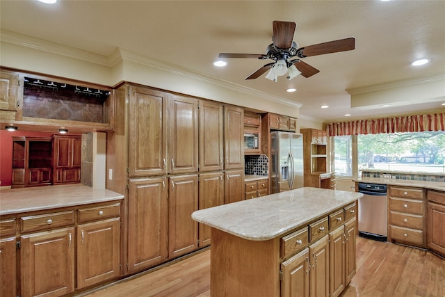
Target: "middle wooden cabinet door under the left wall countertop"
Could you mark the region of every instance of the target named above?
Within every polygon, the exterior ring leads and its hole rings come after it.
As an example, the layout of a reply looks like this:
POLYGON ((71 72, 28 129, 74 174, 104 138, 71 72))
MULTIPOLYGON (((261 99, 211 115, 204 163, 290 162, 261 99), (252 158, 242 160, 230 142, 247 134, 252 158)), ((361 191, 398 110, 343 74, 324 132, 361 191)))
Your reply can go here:
POLYGON ((22 235, 22 297, 74 291, 74 227, 22 235))

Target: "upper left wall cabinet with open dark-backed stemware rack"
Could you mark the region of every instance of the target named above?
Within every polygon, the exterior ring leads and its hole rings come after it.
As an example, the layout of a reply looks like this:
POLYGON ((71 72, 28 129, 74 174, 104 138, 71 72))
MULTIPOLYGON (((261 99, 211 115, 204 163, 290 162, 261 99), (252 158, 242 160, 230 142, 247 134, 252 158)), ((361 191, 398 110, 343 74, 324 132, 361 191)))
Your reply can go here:
POLYGON ((64 127, 74 132, 111 131, 113 89, 92 83, 1 71, 1 109, 17 126, 64 127))

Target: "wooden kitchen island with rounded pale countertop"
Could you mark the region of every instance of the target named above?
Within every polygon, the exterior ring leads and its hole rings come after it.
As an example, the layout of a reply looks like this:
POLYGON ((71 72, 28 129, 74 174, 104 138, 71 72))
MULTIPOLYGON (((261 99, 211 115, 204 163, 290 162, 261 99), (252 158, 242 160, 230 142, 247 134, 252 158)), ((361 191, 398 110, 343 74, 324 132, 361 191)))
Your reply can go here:
MULTIPOLYGON (((323 241, 327 246, 324 240, 331 236, 329 232, 334 236, 333 232, 341 229, 339 243, 345 246, 343 221, 351 219, 355 230, 356 200, 360 197, 360 193, 299 188, 195 211, 194 220, 211 226, 211 296, 291 296, 291 291, 300 289, 308 293, 309 267, 315 267, 308 265, 309 244, 323 241), (302 253, 308 256, 303 257, 301 269, 286 271, 286 262, 302 253)), ((355 245, 353 252, 355 273, 355 245)), ((328 263, 337 256, 342 262, 340 271, 344 271, 345 255, 344 250, 332 253, 326 248, 326 266, 318 271, 327 276, 329 269, 335 268, 328 263)), ((337 272, 333 270, 333 276, 337 272)), ((327 292, 329 280, 323 279, 327 292)), ((343 278, 337 291, 344 287, 343 278)))

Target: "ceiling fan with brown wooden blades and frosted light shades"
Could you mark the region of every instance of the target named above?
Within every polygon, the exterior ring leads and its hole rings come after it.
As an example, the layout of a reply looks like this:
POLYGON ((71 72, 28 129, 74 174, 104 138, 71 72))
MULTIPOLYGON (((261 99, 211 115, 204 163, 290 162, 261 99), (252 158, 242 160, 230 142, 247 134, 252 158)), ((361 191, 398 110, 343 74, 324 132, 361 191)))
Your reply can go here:
POLYGON ((355 38, 353 37, 298 48, 298 44, 293 41, 296 26, 297 24, 294 22, 273 21, 273 43, 267 47, 266 54, 221 53, 219 57, 272 59, 275 62, 264 65, 245 79, 257 79, 269 70, 266 79, 277 81, 277 77, 286 73, 288 73, 287 79, 293 79, 298 74, 303 77, 312 77, 312 75, 320 72, 320 70, 301 61, 300 58, 355 49, 355 38), (293 57, 298 58, 291 60, 293 57))

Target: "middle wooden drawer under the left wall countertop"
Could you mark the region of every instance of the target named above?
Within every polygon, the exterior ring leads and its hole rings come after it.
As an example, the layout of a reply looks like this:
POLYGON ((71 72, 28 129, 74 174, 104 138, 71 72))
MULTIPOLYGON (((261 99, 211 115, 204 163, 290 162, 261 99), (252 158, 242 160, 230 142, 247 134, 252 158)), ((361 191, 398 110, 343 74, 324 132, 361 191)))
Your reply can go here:
POLYGON ((38 216, 24 216, 20 218, 21 232, 35 232, 49 230, 56 227, 74 225, 74 211, 62 211, 38 216))

